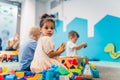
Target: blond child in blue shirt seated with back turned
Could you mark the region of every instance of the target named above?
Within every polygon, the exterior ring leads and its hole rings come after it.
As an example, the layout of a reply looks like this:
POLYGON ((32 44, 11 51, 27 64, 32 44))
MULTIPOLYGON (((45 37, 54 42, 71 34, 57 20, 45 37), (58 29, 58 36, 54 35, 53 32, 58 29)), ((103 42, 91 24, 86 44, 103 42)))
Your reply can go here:
POLYGON ((20 46, 19 62, 21 70, 30 71, 30 64, 33 60, 39 37, 40 28, 32 27, 27 42, 20 46))

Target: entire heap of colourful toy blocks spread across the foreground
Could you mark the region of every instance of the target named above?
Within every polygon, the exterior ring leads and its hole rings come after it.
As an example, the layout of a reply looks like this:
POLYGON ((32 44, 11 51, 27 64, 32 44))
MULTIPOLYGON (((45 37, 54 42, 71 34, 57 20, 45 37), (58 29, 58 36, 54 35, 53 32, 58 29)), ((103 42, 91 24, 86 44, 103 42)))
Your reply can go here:
POLYGON ((92 80, 99 78, 99 71, 94 64, 89 64, 87 57, 61 57, 64 66, 52 65, 42 72, 8 71, 0 68, 0 80, 92 80))

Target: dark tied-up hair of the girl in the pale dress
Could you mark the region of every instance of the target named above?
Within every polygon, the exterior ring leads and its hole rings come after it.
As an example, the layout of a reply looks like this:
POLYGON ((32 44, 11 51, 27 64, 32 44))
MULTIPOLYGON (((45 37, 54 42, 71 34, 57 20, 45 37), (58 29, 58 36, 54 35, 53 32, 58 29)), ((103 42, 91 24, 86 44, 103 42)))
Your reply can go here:
POLYGON ((55 26, 55 21, 54 21, 53 18, 55 18, 54 15, 49 15, 49 14, 46 14, 46 13, 43 14, 41 16, 41 18, 40 18, 40 24, 39 24, 39 26, 42 27, 44 25, 44 23, 46 23, 46 22, 53 22, 53 24, 55 26))

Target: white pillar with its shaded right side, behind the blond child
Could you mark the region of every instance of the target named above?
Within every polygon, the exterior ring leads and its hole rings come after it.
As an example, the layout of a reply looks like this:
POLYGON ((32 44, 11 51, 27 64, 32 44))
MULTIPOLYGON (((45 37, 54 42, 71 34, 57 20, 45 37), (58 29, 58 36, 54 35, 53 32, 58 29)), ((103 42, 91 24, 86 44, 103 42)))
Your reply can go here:
POLYGON ((40 16, 46 12, 46 3, 39 0, 24 0, 21 9, 20 45, 23 44, 33 26, 39 26, 40 16))

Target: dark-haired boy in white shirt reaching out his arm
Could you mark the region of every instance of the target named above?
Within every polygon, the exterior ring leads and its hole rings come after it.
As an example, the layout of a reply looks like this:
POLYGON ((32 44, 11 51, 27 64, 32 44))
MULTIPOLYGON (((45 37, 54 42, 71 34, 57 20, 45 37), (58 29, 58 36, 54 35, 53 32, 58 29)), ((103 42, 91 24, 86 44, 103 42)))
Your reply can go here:
POLYGON ((87 44, 85 42, 79 45, 75 44, 79 38, 79 34, 75 31, 70 31, 68 37, 69 41, 66 44, 66 56, 78 56, 77 50, 80 50, 82 47, 86 47, 87 44))

